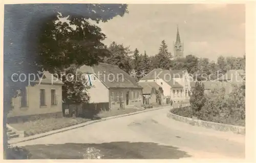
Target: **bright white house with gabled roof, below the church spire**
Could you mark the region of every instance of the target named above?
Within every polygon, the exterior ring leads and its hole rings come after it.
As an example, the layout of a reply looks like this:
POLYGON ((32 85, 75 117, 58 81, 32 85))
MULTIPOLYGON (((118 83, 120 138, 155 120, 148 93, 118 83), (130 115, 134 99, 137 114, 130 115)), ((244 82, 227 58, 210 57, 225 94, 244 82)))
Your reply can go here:
POLYGON ((163 89, 163 101, 167 104, 170 100, 175 103, 188 102, 191 77, 186 69, 167 70, 153 69, 144 76, 140 82, 156 82, 163 89))

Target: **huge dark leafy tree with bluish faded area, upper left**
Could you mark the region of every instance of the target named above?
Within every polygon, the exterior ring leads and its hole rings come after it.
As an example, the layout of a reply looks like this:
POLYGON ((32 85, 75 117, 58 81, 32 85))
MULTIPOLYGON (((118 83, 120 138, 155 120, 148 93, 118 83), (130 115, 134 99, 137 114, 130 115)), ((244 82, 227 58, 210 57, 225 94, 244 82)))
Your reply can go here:
POLYGON ((73 63, 97 64, 98 53, 105 52, 103 44, 100 43, 105 36, 86 19, 105 22, 117 15, 123 16, 127 12, 126 9, 127 5, 122 4, 5 5, 3 116, 5 158, 8 158, 6 118, 11 108, 10 101, 17 89, 24 89, 28 85, 28 78, 24 82, 14 82, 12 75, 24 73, 28 76, 43 70, 60 73, 73 63), (60 29, 56 30, 53 21, 57 19, 58 12, 62 16, 69 16, 71 24, 78 28, 71 30, 67 24, 61 24, 58 26, 60 29), (71 33, 74 35, 71 36, 71 33), (51 36, 58 38, 59 41, 51 36), (87 41, 83 41, 84 36, 87 41), (42 42, 46 43, 41 44, 42 42), (53 43, 55 47, 49 43, 47 47, 47 42, 53 43), (92 45, 93 43, 96 43, 96 46, 92 45), (53 53, 50 53, 51 51, 53 53), (82 53, 84 54, 81 55, 82 53))

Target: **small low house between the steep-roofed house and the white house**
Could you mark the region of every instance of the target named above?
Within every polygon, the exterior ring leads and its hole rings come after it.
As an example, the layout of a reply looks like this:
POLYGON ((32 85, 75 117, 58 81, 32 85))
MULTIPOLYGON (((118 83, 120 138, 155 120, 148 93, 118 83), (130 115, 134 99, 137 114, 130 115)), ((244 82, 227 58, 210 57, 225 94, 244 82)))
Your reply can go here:
MULTIPOLYGON (((139 82, 139 85, 143 88, 143 104, 157 104, 159 101, 157 100, 157 91, 161 88, 156 82, 139 82)), ((161 101, 163 99, 163 95, 160 93, 161 101)))

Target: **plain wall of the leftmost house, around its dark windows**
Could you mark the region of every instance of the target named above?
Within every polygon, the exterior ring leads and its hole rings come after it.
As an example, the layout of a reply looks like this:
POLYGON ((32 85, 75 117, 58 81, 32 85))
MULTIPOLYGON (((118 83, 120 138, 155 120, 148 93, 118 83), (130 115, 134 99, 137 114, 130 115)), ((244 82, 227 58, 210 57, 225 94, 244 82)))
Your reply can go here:
POLYGON ((40 84, 27 86, 27 107, 21 107, 21 97, 13 98, 8 117, 62 112, 62 85, 40 84), (40 106, 40 89, 45 89, 46 106, 40 106), (51 105, 51 89, 56 90, 56 105, 51 105))

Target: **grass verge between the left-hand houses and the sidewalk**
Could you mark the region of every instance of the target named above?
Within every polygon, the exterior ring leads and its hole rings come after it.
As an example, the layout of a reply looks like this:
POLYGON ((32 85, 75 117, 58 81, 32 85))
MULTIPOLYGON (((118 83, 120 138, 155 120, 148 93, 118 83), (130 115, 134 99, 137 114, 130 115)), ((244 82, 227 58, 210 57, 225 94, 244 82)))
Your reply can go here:
MULTIPOLYGON (((129 109, 114 109, 111 111, 104 111, 97 115, 97 118, 106 118, 111 117, 114 115, 121 115, 131 112, 140 111, 136 108, 129 108, 129 109)), ((86 118, 47 118, 47 119, 40 119, 36 121, 29 121, 24 123, 13 123, 10 124, 13 128, 17 130, 25 131, 25 136, 31 136, 39 133, 44 133, 52 130, 57 130, 77 124, 81 124, 84 122, 92 121, 93 119, 86 119, 86 118)))

